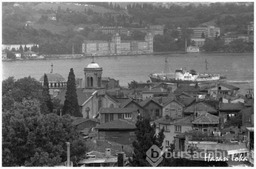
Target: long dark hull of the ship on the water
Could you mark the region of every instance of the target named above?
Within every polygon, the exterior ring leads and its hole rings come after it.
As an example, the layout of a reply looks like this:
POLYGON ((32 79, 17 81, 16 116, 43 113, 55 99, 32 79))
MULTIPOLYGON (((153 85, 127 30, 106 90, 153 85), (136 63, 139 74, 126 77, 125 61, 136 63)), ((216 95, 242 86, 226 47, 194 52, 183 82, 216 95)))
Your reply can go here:
POLYGON ((151 82, 164 82, 171 84, 195 84, 195 83, 215 83, 215 82, 225 82, 226 78, 218 80, 205 80, 205 81, 196 81, 196 80, 175 80, 175 79, 162 79, 154 76, 149 76, 151 82))

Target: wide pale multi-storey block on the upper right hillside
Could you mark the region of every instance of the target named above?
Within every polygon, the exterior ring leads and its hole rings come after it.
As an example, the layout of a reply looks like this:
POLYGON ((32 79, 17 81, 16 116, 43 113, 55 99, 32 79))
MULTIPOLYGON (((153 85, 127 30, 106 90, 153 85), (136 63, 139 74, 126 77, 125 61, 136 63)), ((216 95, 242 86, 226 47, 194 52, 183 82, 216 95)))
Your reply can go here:
MULTIPOLYGON (((212 38, 215 37, 216 32, 218 32, 218 36, 220 35, 220 28, 215 28, 214 26, 207 26, 203 28, 188 28, 193 31, 193 37, 194 38, 201 38, 202 33, 204 33, 204 36, 206 38, 212 38)), ((181 28, 177 28, 177 30, 180 32, 180 35, 182 34, 181 28)))

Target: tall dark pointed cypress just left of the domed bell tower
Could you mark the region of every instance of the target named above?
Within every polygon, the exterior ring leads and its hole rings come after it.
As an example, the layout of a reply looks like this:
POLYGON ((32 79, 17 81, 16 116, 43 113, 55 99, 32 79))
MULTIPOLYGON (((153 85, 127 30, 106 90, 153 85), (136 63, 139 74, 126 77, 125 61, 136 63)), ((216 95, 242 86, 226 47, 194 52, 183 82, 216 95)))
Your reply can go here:
POLYGON ((78 99, 76 94, 76 77, 73 68, 70 69, 67 82, 67 91, 63 106, 63 113, 75 117, 83 117, 79 110, 78 99))

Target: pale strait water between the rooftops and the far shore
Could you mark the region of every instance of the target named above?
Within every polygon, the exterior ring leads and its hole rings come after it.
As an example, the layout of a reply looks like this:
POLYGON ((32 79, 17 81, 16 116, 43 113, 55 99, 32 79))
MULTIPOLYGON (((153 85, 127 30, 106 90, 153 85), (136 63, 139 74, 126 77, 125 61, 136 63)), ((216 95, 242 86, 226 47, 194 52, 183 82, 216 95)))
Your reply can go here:
MULTIPOLYGON (((134 55, 134 56, 100 56, 94 61, 103 68, 102 77, 110 77, 120 81, 121 86, 127 86, 132 80, 146 82, 150 73, 164 71, 164 59, 167 57, 168 70, 186 67, 200 74, 207 68, 210 74, 220 74, 227 77, 228 84, 240 87, 240 93, 245 94, 254 86, 254 56, 253 53, 225 54, 164 54, 164 55, 134 55), (250 82, 250 83, 248 83, 250 82)), ((58 59, 58 60, 22 60, 2 62, 2 76, 15 79, 31 76, 39 80, 44 73, 50 73, 51 64, 55 73, 66 80, 70 68, 74 69, 76 78, 84 79, 84 68, 92 62, 92 58, 58 59)))

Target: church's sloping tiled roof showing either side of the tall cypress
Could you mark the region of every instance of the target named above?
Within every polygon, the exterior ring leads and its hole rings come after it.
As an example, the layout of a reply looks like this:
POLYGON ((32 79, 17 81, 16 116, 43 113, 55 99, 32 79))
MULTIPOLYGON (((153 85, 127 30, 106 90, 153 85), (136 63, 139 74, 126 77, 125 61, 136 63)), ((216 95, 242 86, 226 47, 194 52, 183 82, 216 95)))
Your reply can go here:
MULTIPOLYGON (((66 91, 67 90, 64 89, 55 97, 56 99, 60 99, 60 104, 64 104, 66 91)), ((76 94, 78 99, 78 105, 82 106, 82 104, 84 104, 84 102, 91 97, 92 92, 83 92, 82 88, 76 88, 76 94)))

